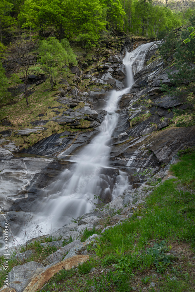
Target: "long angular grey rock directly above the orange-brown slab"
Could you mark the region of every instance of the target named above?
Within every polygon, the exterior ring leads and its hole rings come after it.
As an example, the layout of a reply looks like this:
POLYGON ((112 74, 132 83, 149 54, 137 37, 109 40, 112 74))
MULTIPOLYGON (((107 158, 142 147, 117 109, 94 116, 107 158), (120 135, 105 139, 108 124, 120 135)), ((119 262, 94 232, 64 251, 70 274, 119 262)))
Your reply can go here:
POLYGON ((78 244, 81 244, 80 240, 74 240, 74 241, 70 242, 69 244, 58 249, 58 251, 51 253, 51 255, 47 256, 46 259, 42 261, 42 263, 44 265, 49 265, 49 264, 54 263, 58 260, 62 260, 63 257, 65 256, 65 254, 67 252, 69 252, 71 248, 73 248, 74 246, 77 246, 78 244))

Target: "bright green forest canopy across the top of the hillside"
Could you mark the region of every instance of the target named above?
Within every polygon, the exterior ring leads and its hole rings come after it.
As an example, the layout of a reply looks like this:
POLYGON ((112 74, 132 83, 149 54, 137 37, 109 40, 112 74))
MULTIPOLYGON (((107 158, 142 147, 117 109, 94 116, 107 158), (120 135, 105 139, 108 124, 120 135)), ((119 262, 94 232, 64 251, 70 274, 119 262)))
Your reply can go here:
POLYGON ((194 12, 194 7, 174 11, 152 0, 8 0, 0 4, 0 37, 6 43, 18 29, 44 37, 54 27, 59 40, 82 40, 86 49, 97 44, 103 30, 158 37, 185 24, 194 12))

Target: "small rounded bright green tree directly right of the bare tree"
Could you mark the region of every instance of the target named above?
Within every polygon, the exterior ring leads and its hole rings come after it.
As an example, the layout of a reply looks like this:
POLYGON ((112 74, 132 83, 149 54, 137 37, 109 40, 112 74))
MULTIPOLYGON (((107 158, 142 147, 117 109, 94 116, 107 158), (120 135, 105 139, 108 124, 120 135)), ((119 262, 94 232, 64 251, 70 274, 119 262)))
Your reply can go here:
POLYGON ((57 66, 62 62, 68 62, 68 54, 58 39, 49 37, 47 41, 43 40, 39 46, 39 58, 44 70, 49 75, 51 89, 56 85, 57 66))

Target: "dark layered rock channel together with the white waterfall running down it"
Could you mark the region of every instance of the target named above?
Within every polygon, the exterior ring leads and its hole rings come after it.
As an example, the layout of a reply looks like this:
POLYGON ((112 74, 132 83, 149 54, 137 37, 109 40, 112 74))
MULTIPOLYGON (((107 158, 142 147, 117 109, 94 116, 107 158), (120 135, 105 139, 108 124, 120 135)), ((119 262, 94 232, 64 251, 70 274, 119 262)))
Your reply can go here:
MULTIPOLYGON (((172 86, 168 70, 176 69, 166 68, 161 58, 146 65, 156 42, 125 55, 133 48, 127 39, 121 55, 108 50, 101 72, 92 68, 84 74, 73 67, 75 78, 97 88, 79 92, 67 84, 67 92, 62 89, 57 96, 59 109, 64 108, 61 115, 56 109, 56 117, 33 121, 31 129, 15 134, 45 131, 48 121, 86 131, 53 134, 21 152, 11 141, 0 148, 1 210, 6 213, 1 215, 2 228, 8 220, 20 229, 24 214, 47 220, 48 212, 52 228, 60 227, 68 218, 89 212, 94 195, 112 201, 144 181, 133 176, 135 171, 151 166, 156 173, 178 150, 194 145, 194 127, 176 127, 172 111, 187 105, 160 89, 161 84, 172 86), (108 84, 114 91, 106 89, 108 84)), ((9 134, 4 136, 9 140, 9 134)))

